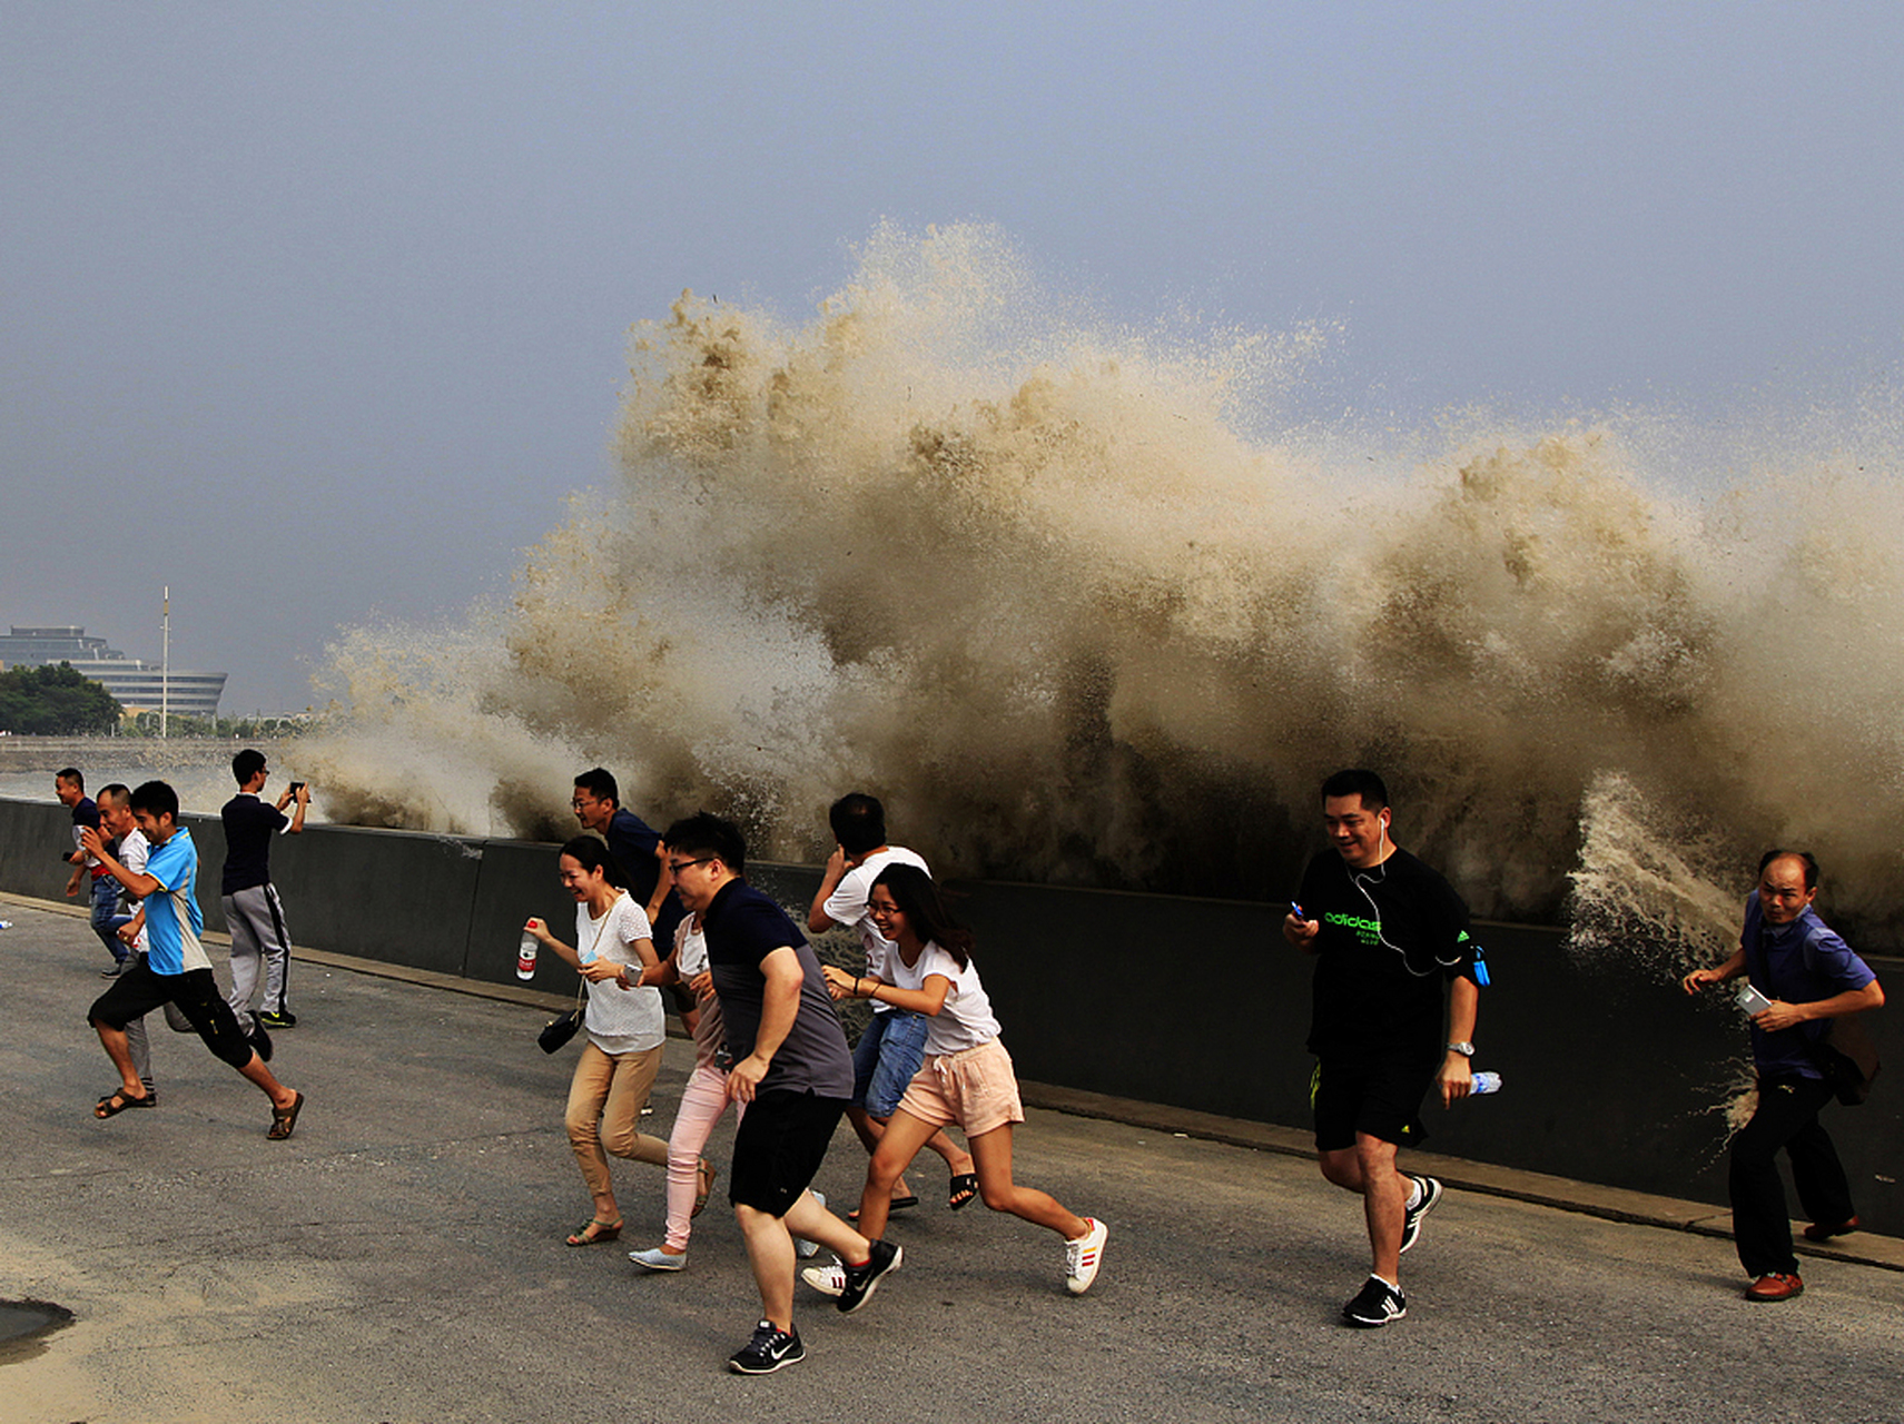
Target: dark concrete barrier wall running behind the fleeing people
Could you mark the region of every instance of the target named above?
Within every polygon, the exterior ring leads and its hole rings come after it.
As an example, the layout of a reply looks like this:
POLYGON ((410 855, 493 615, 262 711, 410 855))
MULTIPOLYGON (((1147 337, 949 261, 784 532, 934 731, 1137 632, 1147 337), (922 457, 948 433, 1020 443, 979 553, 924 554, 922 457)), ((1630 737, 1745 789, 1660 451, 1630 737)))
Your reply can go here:
MULTIPOLYGON (((215 817, 188 815, 187 824, 200 849, 200 904, 209 927, 223 929, 223 830, 215 817)), ((0 889, 57 899, 69 826, 59 805, 0 800, 0 889)), ((573 927, 552 845, 310 826, 276 843, 272 874, 295 942, 484 982, 514 982, 524 918, 546 918, 564 939, 573 927)), ((752 880, 805 921, 819 870, 760 864, 752 880)), ((1007 883, 948 889, 979 935, 977 961, 1022 1078, 1308 1123, 1310 963, 1281 942, 1281 904, 1007 883)), ((1626 959, 1580 963, 1552 929, 1485 925, 1479 939, 1495 982, 1481 998, 1476 1062, 1498 1070, 1506 1087, 1455 1112, 1430 1108, 1428 1146, 1723 1203, 1721 1112, 1748 1068, 1729 1001, 1691 1001, 1626 959)), ((1904 963, 1877 961, 1877 971, 1904 992, 1904 963)), ((545 979, 571 986, 567 975, 545 979)), ((1870 1015, 1893 1076, 1870 1104, 1828 1112, 1866 1226, 1896 1236, 1900 1022, 1898 1013, 1870 1015)))

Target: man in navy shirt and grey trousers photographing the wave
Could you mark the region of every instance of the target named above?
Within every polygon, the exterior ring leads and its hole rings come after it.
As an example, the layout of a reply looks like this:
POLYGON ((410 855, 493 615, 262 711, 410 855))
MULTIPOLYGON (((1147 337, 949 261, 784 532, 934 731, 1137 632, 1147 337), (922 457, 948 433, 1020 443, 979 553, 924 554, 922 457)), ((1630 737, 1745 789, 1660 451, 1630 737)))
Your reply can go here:
POLYGON ((310 788, 297 782, 295 796, 286 790, 276 805, 259 792, 270 779, 265 754, 246 748, 232 758, 232 779, 238 794, 225 803, 219 819, 225 822, 225 878, 219 883, 225 923, 232 933, 232 1013, 238 1022, 253 1022, 251 999, 257 996, 259 965, 265 969, 265 1003, 255 1020, 265 1028, 295 1028, 297 1015, 286 1001, 291 984, 291 933, 284 927, 284 900, 270 883, 272 836, 297 836, 305 828, 310 807, 310 788), (284 807, 297 801, 291 815, 284 807))

